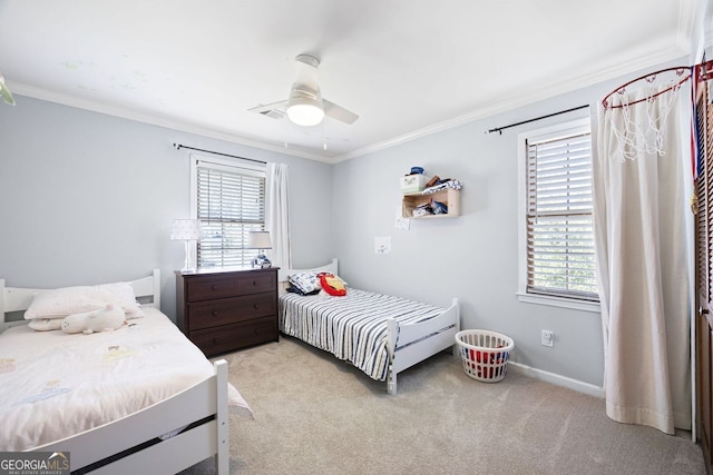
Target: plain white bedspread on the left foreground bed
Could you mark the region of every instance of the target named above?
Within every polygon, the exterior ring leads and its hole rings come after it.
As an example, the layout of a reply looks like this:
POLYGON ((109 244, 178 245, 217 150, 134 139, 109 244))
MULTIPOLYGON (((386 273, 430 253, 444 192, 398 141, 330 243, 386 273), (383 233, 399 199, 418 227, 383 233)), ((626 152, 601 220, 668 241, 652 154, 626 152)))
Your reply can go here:
MULTIPOLYGON (((158 403, 214 373, 159 310, 115 331, 68 335, 27 325, 0 334, 0 452, 25 451, 158 403)), ((250 414, 228 385, 231 409, 250 414)))

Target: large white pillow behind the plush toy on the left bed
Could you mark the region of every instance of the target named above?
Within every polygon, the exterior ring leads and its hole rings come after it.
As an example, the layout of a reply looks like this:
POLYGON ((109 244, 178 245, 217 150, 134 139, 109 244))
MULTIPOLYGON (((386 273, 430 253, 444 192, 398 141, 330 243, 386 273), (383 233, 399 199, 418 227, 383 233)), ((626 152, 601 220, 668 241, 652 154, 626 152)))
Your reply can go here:
POLYGON ((65 318, 67 315, 104 308, 107 304, 124 308, 127 319, 144 316, 131 286, 127 283, 115 283, 41 291, 35 296, 30 307, 25 311, 25 318, 65 318))

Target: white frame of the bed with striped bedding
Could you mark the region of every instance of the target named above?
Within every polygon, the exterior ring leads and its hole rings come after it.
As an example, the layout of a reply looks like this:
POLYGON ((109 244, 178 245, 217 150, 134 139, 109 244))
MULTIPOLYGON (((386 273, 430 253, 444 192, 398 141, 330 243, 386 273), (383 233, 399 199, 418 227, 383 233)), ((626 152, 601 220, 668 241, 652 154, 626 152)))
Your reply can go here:
MULTIPOLYGON (((338 260, 313 269, 280 269, 277 279, 287 283, 292 274, 315 271, 338 273, 338 260)), ((285 284, 286 285, 286 284, 285 284)), ((460 305, 457 298, 451 300, 442 314, 424 321, 414 324, 399 324, 393 318, 387 319, 387 348, 389 352, 389 369, 387 376, 387 390, 397 394, 397 375, 404 369, 420 363, 439 352, 452 348, 456 344, 456 334, 460 331, 460 305), (399 356, 395 358, 395 356, 399 356)))

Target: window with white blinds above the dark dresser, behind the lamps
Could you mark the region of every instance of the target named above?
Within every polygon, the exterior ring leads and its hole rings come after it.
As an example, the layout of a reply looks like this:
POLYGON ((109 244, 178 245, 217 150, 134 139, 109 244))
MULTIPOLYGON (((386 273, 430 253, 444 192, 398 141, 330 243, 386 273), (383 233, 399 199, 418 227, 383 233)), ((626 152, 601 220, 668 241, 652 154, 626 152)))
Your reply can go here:
POLYGON ((248 231, 265 228, 265 168, 247 161, 192 161, 192 209, 201 220, 199 268, 250 266, 248 231))

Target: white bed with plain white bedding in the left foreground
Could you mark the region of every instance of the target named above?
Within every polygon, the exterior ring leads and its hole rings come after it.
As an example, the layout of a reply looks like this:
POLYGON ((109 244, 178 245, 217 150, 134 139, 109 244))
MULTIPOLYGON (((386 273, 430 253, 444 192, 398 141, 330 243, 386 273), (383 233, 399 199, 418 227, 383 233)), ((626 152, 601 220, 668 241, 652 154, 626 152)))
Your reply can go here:
POLYGON ((228 412, 250 407, 158 310, 159 274, 129 283, 143 318, 114 331, 36 331, 6 313, 42 289, 0 280, 0 452, 70 454, 72 473, 176 473, 211 456, 228 473, 228 412))

